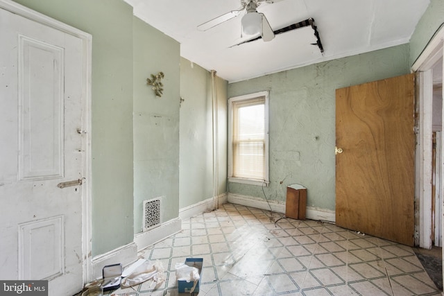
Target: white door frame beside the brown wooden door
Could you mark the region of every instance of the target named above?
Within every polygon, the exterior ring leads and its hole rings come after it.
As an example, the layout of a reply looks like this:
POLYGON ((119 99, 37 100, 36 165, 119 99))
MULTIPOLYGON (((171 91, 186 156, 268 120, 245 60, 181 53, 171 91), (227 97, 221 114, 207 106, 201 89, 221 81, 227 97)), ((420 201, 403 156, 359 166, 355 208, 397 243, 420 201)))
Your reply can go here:
MULTIPOLYGON (((420 119, 420 124, 418 126, 418 142, 419 143, 425 143, 428 139, 428 134, 432 134, 432 97, 433 97, 433 77, 432 77, 432 68, 436 63, 439 61, 440 58, 443 58, 444 56, 444 26, 441 26, 438 31, 434 34, 434 37, 432 37, 432 40, 427 44, 424 51, 420 54, 418 59, 413 63, 411 67, 411 71, 418 73, 419 76, 419 83, 418 83, 418 94, 419 94, 419 105, 420 110, 422 106, 422 110, 424 113, 422 114, 422 117, 425 117, 425 121, 422 121, 420 119), (421 125, 422 123, 422 125, 421 125), (426 124, 425 124, 426 123, 426 124)), ((443 59, 443 66, 444 66, 444 59, 443 59)), ((444 67, 443 67, 444 72, 444 67)), ((444 84, 444 78, 443 78, 443 84, 444 84)), ((444 92, 443 92, 444 95, 444 92)), ((444 117, 444 105, 443 110, 441 110, 443 117, 444 117)), ((421 116, 420 116, 421 117, 421 116)), ((444 130, 444 121, 441 123, 441 130, 444 130)), ((431 140, 429 143, 431 144, 431 140)), ((423 148, 419 148, 416 150, 417 156, 416 159, 418 162, 416 162, 416 166, 419 168, 424 168, 426 164, 424 164, 425 161, 429 162, 430 166, 432 166, 432 150, 426 150, 426 147, 422 146, 423 148), (420 159, 425 159, 425 161, 421 161, 420 159)), ((441 155, 444 155, 444 137, 441 137, 441 155)), ((441 170, 439 178, 441 180, 444 180, 444 164, 441 161, 439 164, 441 170)), ((432 247, 432 216, 430 215, 430 210, 432 209, 432 200, 431 198, 425 198, 425 194, 432 194, 432 175, 430 175, 430 179, 428 177, 424 177, 422 175, 423 172, 420 170, 416 171, 418 176, 416 177, 416 187, 419 189, 417 191, 418 197, 416 199, 419 199, 420 203, 420 220, 419 220, 419 245, 420 247, 424 247, 426 249, 430 249, 432 247), (428 188, 430 188, 430 191, 428 191, 428 188), (427 190, 424 190, 427 189, 427 190)), ((441 196, 443 196, 444 189, 443 186, 439 189, 441 192, 441 196)), ((431 196, 431 195, 428 195, 431 196)), ((444 210, 444 204, 441 203, 441 212, 444 210)), ((443 217, 441 217, 443 218, 443 217)), ((444 219, 443 219, 444 220, 444 219)), ((444 229, 441 227, 441 235, 444 235, 444 229)), ((443 247, 444 250, 444 247, 443 247)), ((444 252, 443 252, 444 254, 444 252)), ((444 272, 443 272, 443 279, 444 279, 444 272)))

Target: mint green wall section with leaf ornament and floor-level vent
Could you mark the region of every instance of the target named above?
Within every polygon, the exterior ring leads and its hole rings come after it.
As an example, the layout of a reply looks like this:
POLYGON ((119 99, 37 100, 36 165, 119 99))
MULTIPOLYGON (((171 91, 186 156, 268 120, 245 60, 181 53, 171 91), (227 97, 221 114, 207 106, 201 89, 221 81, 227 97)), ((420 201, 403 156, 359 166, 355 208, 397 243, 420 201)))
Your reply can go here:
POLYGON ((162 198, 161 220, 179 213, 180 44, 134 18, 134 232, 144 200, 162 198), (162 97, 146 78, 164 73, 162 97))

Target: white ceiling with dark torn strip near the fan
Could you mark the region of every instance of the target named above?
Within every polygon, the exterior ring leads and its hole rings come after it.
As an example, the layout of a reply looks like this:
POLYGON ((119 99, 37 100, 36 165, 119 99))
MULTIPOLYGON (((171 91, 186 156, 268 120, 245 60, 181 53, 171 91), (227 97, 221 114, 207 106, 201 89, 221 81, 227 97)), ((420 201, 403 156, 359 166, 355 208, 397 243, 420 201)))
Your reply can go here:
MULTIPOLYGON (((180 42, 180 55, 229 82, 343 58, 409 42, 429 0, 282 0, 262 3, 273 30, 313 18, 323 44, 311 27, 233 46, 241 37, 241 16, 207 31, 197 26, 237 10, 240 0, 125 0, 134 15, 180 42)), ((251 37, 250 37, 251 38, 251 37)))

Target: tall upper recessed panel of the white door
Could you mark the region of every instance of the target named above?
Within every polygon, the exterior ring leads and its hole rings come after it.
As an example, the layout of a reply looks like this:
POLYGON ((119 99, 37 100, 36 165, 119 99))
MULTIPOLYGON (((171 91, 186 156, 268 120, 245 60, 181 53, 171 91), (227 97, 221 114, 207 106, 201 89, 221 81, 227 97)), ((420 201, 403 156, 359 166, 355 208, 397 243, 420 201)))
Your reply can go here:
POLYGON ((62 177, 64 51, 24 35, 18 45, 19 180, 62 177))

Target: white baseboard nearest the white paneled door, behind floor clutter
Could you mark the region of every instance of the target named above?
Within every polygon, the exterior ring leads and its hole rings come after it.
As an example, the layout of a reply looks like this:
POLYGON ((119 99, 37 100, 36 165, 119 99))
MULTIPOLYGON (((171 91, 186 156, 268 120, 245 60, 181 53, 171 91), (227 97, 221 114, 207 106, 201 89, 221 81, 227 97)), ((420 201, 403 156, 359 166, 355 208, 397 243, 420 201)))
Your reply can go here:
POLYGON ((92 259, 92 279, 102 278, 102 270, 105 265, 121 263, 123 267, 133 263, 137 260, 137 245, 133 243, 128 243, 128 245, 123 245, 105 254, 94 256, 92 259))

